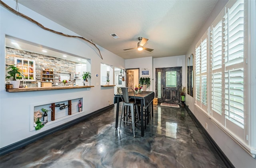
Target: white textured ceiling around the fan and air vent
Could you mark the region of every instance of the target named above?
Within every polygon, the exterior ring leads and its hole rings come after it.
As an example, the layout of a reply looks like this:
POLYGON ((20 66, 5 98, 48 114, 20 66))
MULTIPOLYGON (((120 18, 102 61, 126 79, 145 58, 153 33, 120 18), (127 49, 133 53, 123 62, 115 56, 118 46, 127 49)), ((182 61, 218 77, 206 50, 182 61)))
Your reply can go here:
POLYGON ((185 55, 217 1, 18 0, 18 3, 130 59, 185 55), (120 38, 112 38, 112 33, 120 38), (154 51, 123 50, 137 47, 139 36, 148 38, 144 47, 154 51))

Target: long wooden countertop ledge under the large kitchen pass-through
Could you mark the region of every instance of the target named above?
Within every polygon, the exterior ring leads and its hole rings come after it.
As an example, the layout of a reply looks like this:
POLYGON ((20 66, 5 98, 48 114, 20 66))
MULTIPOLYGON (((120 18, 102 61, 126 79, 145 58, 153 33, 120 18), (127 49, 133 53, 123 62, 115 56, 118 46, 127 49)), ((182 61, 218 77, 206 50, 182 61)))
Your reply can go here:
POLYGON ((53 87, 41 87, 41 88, 18 88, 18 89, 6 89, 6 92, 30 92, 30 91, 42 91, 42 90, 62 90, 62 89, 78 89, 78 88, 91 88, 94 86, 53 86, 53 87))

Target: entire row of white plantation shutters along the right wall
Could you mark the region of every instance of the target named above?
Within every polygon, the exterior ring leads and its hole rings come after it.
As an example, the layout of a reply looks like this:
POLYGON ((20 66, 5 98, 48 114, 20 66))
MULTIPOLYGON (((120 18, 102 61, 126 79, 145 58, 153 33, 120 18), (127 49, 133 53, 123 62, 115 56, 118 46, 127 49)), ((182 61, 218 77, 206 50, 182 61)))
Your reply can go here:
MULTIPOLYGON (((256 139, 250 133, 250 128, 255 128, 251 118, 254 109, 250 105, 253 100, 248 100, 254 94, 248 89, 251 89, 252 66, 255 66, 254 59, 247 60, 248 56, 254 58, 252 11, 255 10, 251 10, 251 4, 251 1, 230 0, 208 29, 207 38, 203 36, 196 44, 198 59, 195 59, 196 107, 242 146, 250 146, 256 139), (204 43, 205 39, 208 44, 204 43), (206 54, 205 46, 209 50, 206 54), (247 64, 251 64, 250 69, 247 64)), ((255 149, 255 143, 253 147, 255 149)), ((255 154, 251 151, 247 150, 255 154)))

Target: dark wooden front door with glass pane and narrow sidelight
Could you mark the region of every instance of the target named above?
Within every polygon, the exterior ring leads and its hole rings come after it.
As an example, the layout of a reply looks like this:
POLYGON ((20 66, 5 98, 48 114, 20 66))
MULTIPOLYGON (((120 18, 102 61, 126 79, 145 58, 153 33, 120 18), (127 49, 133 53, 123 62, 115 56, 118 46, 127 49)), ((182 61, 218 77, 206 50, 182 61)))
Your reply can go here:
POLYGON ((156 68, 156 96, 158 102, 180 103, 182 67, 156 68))

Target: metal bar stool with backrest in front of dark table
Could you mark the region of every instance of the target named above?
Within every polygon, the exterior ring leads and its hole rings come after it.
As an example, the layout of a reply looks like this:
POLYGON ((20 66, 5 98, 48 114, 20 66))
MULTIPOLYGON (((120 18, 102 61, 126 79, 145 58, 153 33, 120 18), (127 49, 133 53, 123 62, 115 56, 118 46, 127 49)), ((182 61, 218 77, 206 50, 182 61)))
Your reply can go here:
MULTIPOLYGON (((135 137, 135 123, 138 122, 140 123, 140 116, 139 116, 139 113, 138 113, 138 105, 136 104, 136 98, 135 98, 135 92, 132 88, 128 88, 128 87, 121 87, 121 88, 118 88, 118 94, 120 95, 120 97, 122 98, 122 101, 123 101, 123 104, 122 104, 122 113, 121 113, 121 118, 120 118, 120 129, 121 129, 121 122, 122 122, 122 119, 123 122, 125 123, 131 123, 132 124, 132 130, 133 130, 133 136, 135 137), (119 90, 122 90, 122 95, 120 94, 119 90), (128 90, 131 89, 133 94, 134 94, 134 101, 130 102, 130 99, 129 99, 129 95, 128 95, 128 90), (128 107, 127 108, 127 111, 126 111, 126 114, 124 114, 124 108, 125 107, 128 107), (135 109, 134 109, 135 107, 135 109), (129 122, 128 121, 128 113, 129 113, 129 108, 131 110, 131 118, 132 118, 132 122, 129 122), (134 113, 134 110, 136 110, 136 113, 137 113, 137 118, 135 120, 135 113, 134 113), (124 114, 124 116, 123 116, 124 114), (126 118, 126 120, 125 120, 126 118)), ((119 129, 119 132, 120 132, 120 129, 119 129)))

